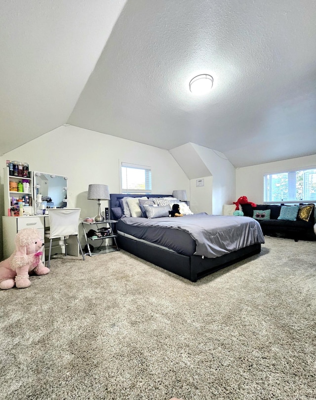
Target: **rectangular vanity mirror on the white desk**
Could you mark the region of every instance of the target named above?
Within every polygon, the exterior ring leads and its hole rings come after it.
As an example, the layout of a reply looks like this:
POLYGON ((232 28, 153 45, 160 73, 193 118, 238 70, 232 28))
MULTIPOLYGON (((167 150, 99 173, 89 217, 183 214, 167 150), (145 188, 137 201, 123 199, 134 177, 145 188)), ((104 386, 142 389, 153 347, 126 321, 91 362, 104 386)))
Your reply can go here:
POLYGON ((34 172, 35 214, 44 214, 48 208, 67 207, 67 177, 34 172))

